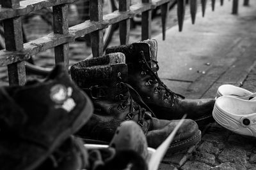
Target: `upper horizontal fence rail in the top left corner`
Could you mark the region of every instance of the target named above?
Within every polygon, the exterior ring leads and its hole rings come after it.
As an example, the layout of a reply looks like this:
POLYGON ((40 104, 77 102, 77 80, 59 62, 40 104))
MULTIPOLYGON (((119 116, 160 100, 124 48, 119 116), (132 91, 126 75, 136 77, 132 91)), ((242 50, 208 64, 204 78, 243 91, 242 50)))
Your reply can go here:
MULTIPOLYGON (((7 1, 7 0, 4 0, 7 1)), ((18 8, 12 9, 10 7, 0 8, 0 20, 27 15, 31 11, 40 10, 42 8, 49 8, 58 4, 73 3, 76 0, 26 0, 21 1, 18 8)))

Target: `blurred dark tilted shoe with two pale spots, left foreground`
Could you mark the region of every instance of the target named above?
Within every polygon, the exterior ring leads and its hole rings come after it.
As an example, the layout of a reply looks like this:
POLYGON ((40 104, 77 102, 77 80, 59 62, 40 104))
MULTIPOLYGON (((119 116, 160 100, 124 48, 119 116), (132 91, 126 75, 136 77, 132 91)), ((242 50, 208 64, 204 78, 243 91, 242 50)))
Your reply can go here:
POLYGON ((92 102, 62 65, 43 82, 0 89, 1 170, 34 169, 91 117, 92 102))

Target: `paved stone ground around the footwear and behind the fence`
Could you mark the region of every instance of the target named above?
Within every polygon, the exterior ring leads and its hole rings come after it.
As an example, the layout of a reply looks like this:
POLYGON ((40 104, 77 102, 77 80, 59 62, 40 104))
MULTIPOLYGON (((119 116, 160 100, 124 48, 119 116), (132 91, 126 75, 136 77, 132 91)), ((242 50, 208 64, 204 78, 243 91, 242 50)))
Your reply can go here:
MULTIPOLYGON (((240 1, 240 3, 242 3, 240 1)), ((191 25, 186 14, 184 31, 178 32, 176 11, 169 15, 166 41, 161 40, 161 20, 152 22, 152 37, 159 42, 159 76, 175 92, 188 98, 214 97, 224 83, 256 89, 256 1, 250 7, 240 4, 239 15, 231 15, 231 1, 213 13, 208 2, 206 17, 198 13, 196 24, 191 25), (166 48, 172 46, 172 48, 166 48)), ((198 11, 200 6, 198 7, 198 11)), ((188 11, 188 10, 187 10, 188 11)), ((38 27, 40 19, 34 18, 28 27, 38 27)), ((43 36, 51 28, 31 29, 30 39, 43 36)), ((140 40, 140 25, 131 30, 130 42, 140 40)), ((110 46, 118 45, 118 32, 110 46)), ((84 43, 70 44, 70 64, 90 55, 84 43)), ((54 64, 52 50, 35 57, 38 65, 54 64)), ((6 85, 6 67, 0 67, 0 85, 6 85)), ((205 129, 202 141, 182 153, 164 157, 159 169, 256 169, 256 140, 234 134, 213 123, 205 129)))

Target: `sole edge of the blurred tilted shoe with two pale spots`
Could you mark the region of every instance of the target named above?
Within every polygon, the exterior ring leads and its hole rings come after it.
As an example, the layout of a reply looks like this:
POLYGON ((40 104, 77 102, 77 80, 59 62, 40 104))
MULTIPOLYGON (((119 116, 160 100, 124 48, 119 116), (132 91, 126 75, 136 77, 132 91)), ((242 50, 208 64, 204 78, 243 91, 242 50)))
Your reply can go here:
MULTIPOLYGON (((66 131, 63 131, 60 136, 58 136, 54 143, 52 143, 51 147, 49 148, 49 150, 47 150, 43 155, 41 155, 41 159, 38 159, 36 162, 34 162, 31 166, 27 166, 27 167, 22 167, 23 170, 33 170, 36 167, 40 166, 40 164, 42 162, 44 162, 45 159, 47 159, 47 157, 49 157, 49 155, 51 155, 52 152, 54 152, 55 148, 57 148, 58 146, 61 145, 61 143, 63 141, 65 141, 65 139, 68 138, 68 136, 70 136, 71 134, 74 134, 74 132, 78 131, 83 125, 84 123, 90 118, 88 117, 87 119, 84 117, 87 117, 88 113, 92 113, 93 112, 93 105, 92 102, 86 97, 87 103, 85 104, 83 110, 81 111, 80 114, 74 124, 72 124, 72 127, 67 128, 66 131)), ((7 169, 6 169, 7 170, 7 169)))

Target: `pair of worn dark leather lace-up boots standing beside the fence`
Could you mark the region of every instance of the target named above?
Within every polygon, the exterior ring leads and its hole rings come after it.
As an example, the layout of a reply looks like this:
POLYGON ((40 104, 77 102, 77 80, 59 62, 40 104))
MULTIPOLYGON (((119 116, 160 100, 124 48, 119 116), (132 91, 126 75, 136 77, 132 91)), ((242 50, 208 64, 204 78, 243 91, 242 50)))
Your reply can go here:
POLYGON ((157 148, 178 124, 177 119, 187 114, 189 119, 168 152, 198 143, 198 125, 213 120, 214 99, 184 99, 164 85, 157 76, 158 69, 154 39, 111 47, 102 57, 74 64, 72 80, 90 96, 95 108, 77 135, 86 141, 109 143, 121 122, 133 120, 145 133, 148 146, 157 148))

